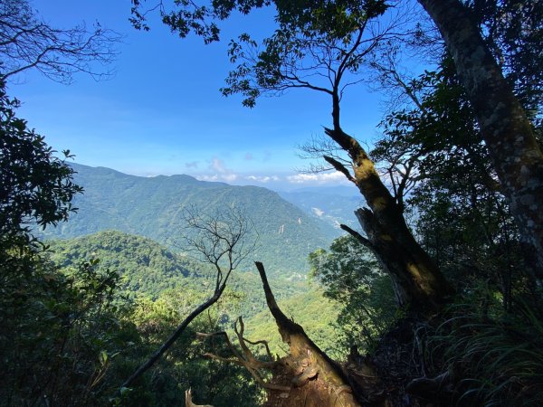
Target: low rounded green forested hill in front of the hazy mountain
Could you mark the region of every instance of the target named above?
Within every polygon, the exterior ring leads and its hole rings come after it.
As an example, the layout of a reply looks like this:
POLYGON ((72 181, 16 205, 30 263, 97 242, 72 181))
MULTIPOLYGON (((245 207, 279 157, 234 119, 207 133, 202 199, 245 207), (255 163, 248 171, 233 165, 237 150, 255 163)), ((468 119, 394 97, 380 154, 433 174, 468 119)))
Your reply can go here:
MULTIPOLYGON (((195 290, 202 294, 213 289, 214 270, 148 238, 118 231, 92 233, 72 239, 49 241, 49 258, 62 268, 76 268, 81 261, 99 259, 99 267, 117 271, 122 288, 158 298, 167 289, 195 290)), ((284 278, 271 279, 278 298, 291 298, 308 291, 307 282, 284 278)), ((262 282, 254 270, 234 271, 229 287, 243 293, 243 317, 262 311, 265 298, 262 282)), ((238 317, 233 316, 233 317, 238 317)))

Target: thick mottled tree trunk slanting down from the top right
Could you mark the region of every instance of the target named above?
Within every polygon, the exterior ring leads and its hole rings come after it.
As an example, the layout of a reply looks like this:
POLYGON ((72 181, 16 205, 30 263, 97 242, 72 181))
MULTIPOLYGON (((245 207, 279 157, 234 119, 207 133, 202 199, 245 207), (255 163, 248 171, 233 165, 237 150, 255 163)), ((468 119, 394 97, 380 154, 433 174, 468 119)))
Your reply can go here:
MULTIPOLYGON (((504 79, 469 9, 458 0, 418 0, 452 54, 478 118, 502 192, 535 273, 543 278, 543 154, 524 109, 504 79)), ((528 262, 529 260, 527 260, 528 262)))

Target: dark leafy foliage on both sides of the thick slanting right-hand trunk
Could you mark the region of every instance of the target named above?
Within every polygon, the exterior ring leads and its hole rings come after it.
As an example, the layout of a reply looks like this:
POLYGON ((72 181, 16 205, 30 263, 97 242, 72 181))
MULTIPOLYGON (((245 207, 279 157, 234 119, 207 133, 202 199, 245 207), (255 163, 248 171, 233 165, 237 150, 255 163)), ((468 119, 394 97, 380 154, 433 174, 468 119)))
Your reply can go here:
MULTIPOLYGON (((465 3, 537 126, 541 55, 534 50, 543 39, 540 2, 465 3)), ((533 274, 530 253, 522 251, 452 58, 444 55, 437 71, 404 86, 413 103, 383 120, 384 137, 372 153, 391 170, 398 164, 409 168, 405 206, 424 248, 461 291, 485 280, 500 290, 504 308, 512 307, 515 297, 533 299, 534 284, 527 284, 533 274)))

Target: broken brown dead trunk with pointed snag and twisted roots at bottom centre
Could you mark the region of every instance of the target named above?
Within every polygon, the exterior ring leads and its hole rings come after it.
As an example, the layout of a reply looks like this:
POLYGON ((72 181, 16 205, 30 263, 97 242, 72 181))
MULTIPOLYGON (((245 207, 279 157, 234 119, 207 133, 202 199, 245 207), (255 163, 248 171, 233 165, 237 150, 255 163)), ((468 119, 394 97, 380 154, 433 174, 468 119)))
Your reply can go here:
POLYGON ((243 336, 242 317, 234 324, 241 352, 236 349, 225 332, 198 333, 202 339, 221 336, 233 357, 213 354, 205 356, 220 362, 238 364, 268 393, 266 407, 358 407, 386 406, 386 392, 376 376, 375 368, 357 353, 349 356, 342 367, 315 345, 303 328, 286 317, 278 307, 271 292, 266 272, 261 262, 255 262, 262 279, 266 303, 275 318, 283 342, 289 345, 289 355, 274 358, 266 341, 252 342, 243 336), (239 324, 239 329, 238 329, 239 324), (252 354, 248 345, 264 345, 266 360, 252 354), (353 356, 354 355, 354 356, 353 356), (353 356, 353 357, 351 357, 353 356), (359 360, 360 359, 360 360, 359 360), (267 373, 271 379, 267 380, 267 373))

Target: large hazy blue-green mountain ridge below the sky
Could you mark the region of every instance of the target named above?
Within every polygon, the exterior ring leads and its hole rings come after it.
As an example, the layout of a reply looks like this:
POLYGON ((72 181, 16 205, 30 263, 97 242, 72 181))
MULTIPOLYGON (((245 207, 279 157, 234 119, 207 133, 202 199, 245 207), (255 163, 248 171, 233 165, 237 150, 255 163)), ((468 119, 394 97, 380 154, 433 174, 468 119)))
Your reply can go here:
MULTIPOLYGON (((73 238, 118 230, 148 237, 172 248, 183 229, 189 205, 214 213, 234 205, 252 219, 260 235, 259 248, 249 260, 261 260, 271 274, 304 273, 307 256, 328 247, 334 232, 326 222, 304 213, 277 193, 258 186, 234 186, 198 181, 189 175, 141 177, 105 167, 71 164, 76 184, 85 192, 68 222, 47 228, 45 238, 73 238)), ((251 268, 251 261, 245 268, 251 268)))

